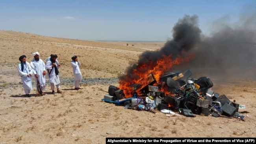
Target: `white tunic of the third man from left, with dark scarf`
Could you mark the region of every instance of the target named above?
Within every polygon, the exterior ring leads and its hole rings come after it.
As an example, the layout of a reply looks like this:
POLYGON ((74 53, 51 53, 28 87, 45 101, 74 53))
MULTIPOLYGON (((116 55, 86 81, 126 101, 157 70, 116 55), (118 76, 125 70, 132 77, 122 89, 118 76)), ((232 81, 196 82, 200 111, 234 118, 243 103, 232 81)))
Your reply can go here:
MULTIPOLYGON (((57 66, 57 60, 55 63, 57 66)), ((57 66, 57 68, 59 69, 59 66, 57 66)), ((52 67, 52 62, 50 60, 46 61, 45 69, 47 70, 50 83, 54 83, 54 85, 58 85, 60 83, 59 74, 58 75, 55 74, 55 68, 52 67)))

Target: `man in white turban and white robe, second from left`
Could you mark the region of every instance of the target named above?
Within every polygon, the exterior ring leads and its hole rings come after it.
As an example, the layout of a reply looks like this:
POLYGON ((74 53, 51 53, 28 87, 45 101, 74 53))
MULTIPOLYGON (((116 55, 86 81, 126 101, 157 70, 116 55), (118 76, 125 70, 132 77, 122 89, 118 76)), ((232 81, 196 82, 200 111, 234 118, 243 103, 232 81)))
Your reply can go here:
MULTIPOLYGON (((37 83, 37 81, 39 82, 40 85, 40 94, 41 96, 45 95, 45 93, 43 92, 43 90, 45 90, 45 62, 42 59, 39 59, 39 52, 35 52, 32 54, 33 55, 33 59, 30 62, 30 66, 33 69, 33 74, 35 75, 35 83, 37 83)), ((37 87, 37 91, 38 91, 38 87, 37 87)))

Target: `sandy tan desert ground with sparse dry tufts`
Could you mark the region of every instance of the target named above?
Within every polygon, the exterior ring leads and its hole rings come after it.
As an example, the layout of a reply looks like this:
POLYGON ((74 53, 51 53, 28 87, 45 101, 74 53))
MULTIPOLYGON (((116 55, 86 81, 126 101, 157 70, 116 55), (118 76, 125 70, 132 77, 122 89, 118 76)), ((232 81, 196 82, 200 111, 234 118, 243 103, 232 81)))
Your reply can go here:
MULTIPOLYGON (((17 65, 19 56, 32 60, 57 54, 61 78, 73 78, 71 57, 78 56, 83 78, 117 78, 147 50, 157 50, 164 42, 93 42, 45 37, 31 33, 0 30, 0 143, 87 143, 104 144, 106 137, 256 137, 256 81, 216 83, 212 90, 230 101, 245 105, 239 109, 244 120, 196 115, 168 116, 124 109, 124 105, 104 102, 109 85, 61 85, 61 94, 24 97, 17 65), (128 44, 128 46, 127 46, 128 44), (132 46, 134 45, 134 46, 132 46)), ((48 79, 47 79, 48 80, 48 79)), ((113 83, 119 86, 118 83, 113 83)))

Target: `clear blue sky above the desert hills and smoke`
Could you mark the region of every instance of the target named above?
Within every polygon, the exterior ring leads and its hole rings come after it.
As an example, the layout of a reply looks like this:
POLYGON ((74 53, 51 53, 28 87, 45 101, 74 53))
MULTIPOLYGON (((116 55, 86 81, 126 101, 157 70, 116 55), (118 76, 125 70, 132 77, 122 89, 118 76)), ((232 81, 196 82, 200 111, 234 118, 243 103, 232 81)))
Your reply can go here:
POLYGON ((167 41, 184 15, 203 34, 214 20, 256 11, 256 0, 0 0, 0 30, 88 41, 167 41))

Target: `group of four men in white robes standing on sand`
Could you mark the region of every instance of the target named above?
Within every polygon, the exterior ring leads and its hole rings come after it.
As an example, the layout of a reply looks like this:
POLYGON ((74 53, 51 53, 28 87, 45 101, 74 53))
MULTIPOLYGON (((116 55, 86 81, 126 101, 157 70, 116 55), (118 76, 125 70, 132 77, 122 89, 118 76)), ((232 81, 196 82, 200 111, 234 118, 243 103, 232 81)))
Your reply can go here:
MULTIPOLYGON (((56 54, 51 54, 50 57, 46 58, 45 64, 45 62, 39 58, 39 52, 35 52, 32 55, 34 58, 30 63, 26 61, 26 55, 21 55, 19 57, 20 63, 18 65, 18 72, 23 83, 24 92, 26 94, 25 96, 30 97, 30 90, 32 90, 32 74, 34 74, 35 76, 35 83, 40 85, 40 87, 37 87, 37 91, 38 89, 40 89, 41 96, 45 95, 43 91, 45 91, 46 70, 48 73, 52 94, 55 94, 55 86, 57 88, 57 93, 61 93, 59 79, 60 63, 57 60, 58 56, 56 54)), ((71 59, 71 66, 73 68, 73 74, 75 79, 75 90, 79 90, 82 89, 79 87, 80 81, 82 80, 82 74, 79 68, 81 64, 78 61, 77 56, 73 56, 71 59)))

